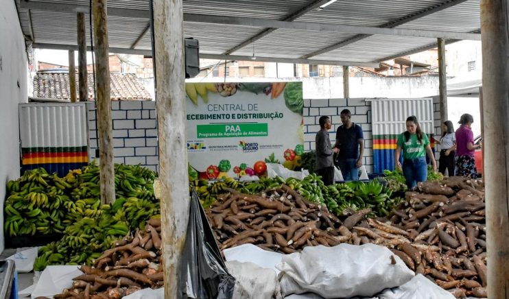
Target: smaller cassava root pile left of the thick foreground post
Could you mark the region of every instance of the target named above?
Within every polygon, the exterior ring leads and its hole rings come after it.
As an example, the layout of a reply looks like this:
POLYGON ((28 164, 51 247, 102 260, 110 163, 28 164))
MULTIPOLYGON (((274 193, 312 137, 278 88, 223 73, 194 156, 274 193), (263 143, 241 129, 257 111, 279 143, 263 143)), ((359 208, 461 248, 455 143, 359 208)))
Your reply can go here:
POLYGON ((82 265, 83 275, 56 299, 118 299, 146 287, 163 287, 161 219, 147 221, 144 230, 117 241, 94 261, 82 265))

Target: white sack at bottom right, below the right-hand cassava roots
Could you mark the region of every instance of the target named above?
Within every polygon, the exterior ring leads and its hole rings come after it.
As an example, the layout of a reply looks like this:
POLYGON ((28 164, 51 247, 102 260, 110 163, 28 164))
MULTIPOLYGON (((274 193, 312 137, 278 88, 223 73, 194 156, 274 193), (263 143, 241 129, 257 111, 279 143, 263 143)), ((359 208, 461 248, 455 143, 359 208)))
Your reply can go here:
POLYGON ((387 289, 378 295, 380 299, 454 299, 455 297, 432 283, 421 274, 417 274, 412 280, 396 287, 387 289))

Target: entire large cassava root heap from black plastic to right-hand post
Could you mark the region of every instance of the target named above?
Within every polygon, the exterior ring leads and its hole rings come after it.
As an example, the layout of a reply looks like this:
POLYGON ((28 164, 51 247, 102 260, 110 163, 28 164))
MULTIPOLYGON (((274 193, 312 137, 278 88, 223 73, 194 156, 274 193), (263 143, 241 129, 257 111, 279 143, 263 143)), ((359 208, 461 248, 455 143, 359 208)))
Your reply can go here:
POLYGON ((418 189, 386 218, 366 219, 366 209, 342 221, 285 185, 261 195, 228 189, 207 215, 221 249, 252 243, 292 253, 319 244, 375 243, 457 298, 486 297, 482 182, 451 177, 418 189))

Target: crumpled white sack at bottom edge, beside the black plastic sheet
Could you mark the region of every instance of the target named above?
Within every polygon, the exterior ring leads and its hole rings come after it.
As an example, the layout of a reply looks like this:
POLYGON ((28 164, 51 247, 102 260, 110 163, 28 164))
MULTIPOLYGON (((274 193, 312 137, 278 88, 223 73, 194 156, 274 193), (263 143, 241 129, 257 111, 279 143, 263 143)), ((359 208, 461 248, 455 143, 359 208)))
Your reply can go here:
POLYGON ((282 299, 276 272, 254 263, 227 261, 228 272, 235 278, 233 299, 282 299))

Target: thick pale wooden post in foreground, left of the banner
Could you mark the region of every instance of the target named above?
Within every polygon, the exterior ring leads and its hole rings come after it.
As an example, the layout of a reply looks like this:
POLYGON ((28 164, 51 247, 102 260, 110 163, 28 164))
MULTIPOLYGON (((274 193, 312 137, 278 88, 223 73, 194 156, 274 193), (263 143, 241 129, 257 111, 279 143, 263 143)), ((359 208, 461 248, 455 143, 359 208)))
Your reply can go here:
POLYGON ((165 261, 165 298, 177 294, 189 221, 189 180, 185 133, 185 69, 182 0, 154 0, 156 47, 156 115, 159 137, 159 180, 165 261))

